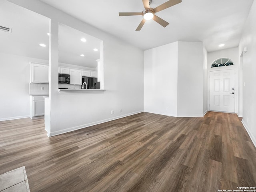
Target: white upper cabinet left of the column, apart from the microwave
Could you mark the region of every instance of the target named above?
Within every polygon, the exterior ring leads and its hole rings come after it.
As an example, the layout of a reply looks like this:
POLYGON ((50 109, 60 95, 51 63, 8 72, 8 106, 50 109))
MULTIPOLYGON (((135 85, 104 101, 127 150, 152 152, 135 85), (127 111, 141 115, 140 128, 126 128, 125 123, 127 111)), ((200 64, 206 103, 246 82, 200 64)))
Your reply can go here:
POLYGON ((49 83, 49 66, 30 62, 30 83, 49 83))

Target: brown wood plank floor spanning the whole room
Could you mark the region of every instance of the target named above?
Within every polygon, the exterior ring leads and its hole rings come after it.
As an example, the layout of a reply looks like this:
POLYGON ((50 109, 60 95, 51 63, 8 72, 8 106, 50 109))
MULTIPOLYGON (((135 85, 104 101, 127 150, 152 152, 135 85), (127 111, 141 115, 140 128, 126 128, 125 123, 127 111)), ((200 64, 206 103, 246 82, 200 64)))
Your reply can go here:
POLYGON ((0 122, 0 174, 31 192, 217 192, 256 186, 256 148, 236 114, 140 113, 48 138, 44 120, 0 122))

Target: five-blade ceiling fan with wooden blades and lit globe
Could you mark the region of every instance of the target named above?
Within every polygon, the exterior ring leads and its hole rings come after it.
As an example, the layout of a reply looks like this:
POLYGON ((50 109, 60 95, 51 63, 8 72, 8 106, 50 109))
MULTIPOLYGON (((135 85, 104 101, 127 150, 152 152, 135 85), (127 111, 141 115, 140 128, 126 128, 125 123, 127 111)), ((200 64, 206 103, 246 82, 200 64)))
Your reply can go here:
POLYGON ((146 20, 153 19, 154 21, 158 22, 163 27, 166 27, 169 23, 165 20, 161 19, 160 17, 156 16, 155 13, 160 12, 166 8, 169 8, 171 6, 174 6, 181 2, 181 0, 169 0, 165 3, 163 3, 160 6, 157 6, 156 8, 150 8, 150 2, 151 0, 142 0, 144 5, 144 10, 142 12, 123 12, 119 13, 119 16, 132 16, 132 15, 142 15, 143 19, 140 22, 139 26, 137 27, 136 31, 140 31, 146 20))

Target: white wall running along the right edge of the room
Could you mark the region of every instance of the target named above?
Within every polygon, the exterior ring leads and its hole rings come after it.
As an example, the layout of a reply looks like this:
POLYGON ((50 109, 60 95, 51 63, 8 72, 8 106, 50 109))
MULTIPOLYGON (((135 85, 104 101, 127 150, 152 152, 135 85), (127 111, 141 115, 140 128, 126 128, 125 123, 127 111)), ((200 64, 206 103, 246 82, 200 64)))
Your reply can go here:
POLYGON ((243 124, 256 146, 256 1, 254 0, 239 44, 243 53, 243 124))

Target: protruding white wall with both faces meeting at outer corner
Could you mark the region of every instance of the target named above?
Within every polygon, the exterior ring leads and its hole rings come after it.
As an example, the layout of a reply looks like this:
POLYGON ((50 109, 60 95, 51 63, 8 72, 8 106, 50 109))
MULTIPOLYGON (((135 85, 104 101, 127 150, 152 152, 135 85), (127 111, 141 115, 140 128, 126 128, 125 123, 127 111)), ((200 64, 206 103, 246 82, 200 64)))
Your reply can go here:
POLYGON ((174 42, 144 51, 145 112, 202 116, 203 96, 202 43, 174 42))

